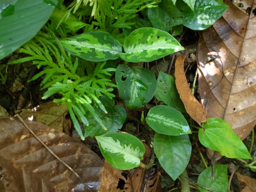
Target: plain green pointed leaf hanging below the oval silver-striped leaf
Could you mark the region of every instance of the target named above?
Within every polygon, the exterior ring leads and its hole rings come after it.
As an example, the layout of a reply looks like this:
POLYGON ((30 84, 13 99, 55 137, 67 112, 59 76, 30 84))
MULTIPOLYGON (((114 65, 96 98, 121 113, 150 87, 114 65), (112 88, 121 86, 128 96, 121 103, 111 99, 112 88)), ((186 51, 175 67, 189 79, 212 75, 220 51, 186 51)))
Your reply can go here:
POLYGON ((188 135, 169 136, 156 133, 154 151, 166 173, 176 180, 188 165, 191 143, 188 135))

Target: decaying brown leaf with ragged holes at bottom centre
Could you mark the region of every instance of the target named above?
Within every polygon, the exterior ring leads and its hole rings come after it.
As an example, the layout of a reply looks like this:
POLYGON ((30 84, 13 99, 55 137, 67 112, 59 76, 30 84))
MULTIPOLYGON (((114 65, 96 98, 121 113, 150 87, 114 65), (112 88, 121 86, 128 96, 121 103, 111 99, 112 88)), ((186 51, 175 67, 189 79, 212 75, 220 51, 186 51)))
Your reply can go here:
MULTIPOLYGON (((143 163, 150 160, 150 149, 144 144, 146 152, 143 163)), ((118 170, 104 161, 99 192, 162 192, 159 180, 160 172, 152 167, 131 170, 118 170)))

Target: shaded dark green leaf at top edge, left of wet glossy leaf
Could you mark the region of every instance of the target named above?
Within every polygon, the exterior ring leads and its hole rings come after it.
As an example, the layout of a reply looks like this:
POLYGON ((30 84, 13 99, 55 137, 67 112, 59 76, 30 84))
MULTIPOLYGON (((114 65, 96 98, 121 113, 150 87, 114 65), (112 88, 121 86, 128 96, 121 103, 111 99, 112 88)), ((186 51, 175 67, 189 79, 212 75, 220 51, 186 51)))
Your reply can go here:
POLYGON ((183 13, 175 6, 173 0, 161 0, 159 7, 170 16, 170 25, 177 26, 183 23, 183 13))

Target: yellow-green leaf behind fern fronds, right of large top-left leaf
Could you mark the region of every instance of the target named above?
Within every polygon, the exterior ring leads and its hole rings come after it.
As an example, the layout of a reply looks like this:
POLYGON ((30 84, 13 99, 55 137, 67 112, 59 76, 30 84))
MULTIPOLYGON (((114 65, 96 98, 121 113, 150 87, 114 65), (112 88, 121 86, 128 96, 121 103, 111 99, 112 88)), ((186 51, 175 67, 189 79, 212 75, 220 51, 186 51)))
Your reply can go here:
MULTIPOLYGON (((55 21, 51 23, 51 28, 56 28, 57 24, 62 20, 66 13, 66 7, 62 4, 58 5, 52 13, 51 19, 55 21)), ((85 23, 80 22, 78 18, 71 12, 67 19, 64 19, 61 23, 67 33, 77 32, 80 28, 86 26, 85 23)))

